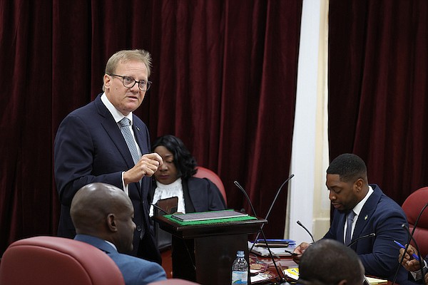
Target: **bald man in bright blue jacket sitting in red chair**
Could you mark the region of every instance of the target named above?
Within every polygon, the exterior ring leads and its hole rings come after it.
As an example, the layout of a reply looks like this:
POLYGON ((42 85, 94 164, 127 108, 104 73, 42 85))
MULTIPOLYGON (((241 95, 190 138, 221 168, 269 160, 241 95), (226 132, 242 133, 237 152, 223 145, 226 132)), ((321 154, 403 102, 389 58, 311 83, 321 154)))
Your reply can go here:
POLYGON ((133 249, 133 212, 131 199, 118 187, 106 183, 83 186, 71 202, 74 239, 106 252, 121 270, 126 285, 166 279, 159 264, 124 254, 133 249))

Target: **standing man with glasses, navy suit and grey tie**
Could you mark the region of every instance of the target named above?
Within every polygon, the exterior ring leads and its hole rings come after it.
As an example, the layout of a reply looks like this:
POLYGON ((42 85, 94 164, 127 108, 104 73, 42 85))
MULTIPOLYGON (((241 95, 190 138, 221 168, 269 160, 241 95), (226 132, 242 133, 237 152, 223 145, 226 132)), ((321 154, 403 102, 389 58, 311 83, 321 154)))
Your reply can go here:
POLYGON ((148 219, 148 190, 162 157, 149 153, 148 128, 133 115, 151 86, 150 68, 147 51, 118 51, 111 56, 103 76, 104 93, 68 114, 59 126, 54 166, 61 202, 58 236, 76 234, 70 205, 77 190, 93 182, 108 183, 133 203, 136 231, 131 254, 161 264, 148 219))

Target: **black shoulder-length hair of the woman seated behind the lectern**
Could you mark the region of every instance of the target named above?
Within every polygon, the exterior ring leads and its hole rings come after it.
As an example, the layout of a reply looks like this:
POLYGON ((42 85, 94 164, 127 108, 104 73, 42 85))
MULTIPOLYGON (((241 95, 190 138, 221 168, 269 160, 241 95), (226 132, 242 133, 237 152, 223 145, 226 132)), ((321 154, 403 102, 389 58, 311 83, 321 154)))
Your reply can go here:
POLYGON ((158 146, 166 147, 174 155, 174 165, 177 168, 178 177, 188 179, 196 173, 197 166, 195 157, 190 154, 184 143, 173 135, 163 135, 156 138, 152 145, 152 151, 158 146))

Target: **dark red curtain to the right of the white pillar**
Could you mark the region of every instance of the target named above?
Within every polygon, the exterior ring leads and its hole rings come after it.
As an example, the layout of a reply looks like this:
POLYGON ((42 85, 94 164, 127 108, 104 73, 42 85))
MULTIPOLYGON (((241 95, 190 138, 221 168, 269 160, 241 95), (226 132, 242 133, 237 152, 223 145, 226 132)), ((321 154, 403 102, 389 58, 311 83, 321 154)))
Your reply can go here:
POLYGON ((330 157, 402 204, 428 185, 428 1, 330 0, 329 38, 330 157))

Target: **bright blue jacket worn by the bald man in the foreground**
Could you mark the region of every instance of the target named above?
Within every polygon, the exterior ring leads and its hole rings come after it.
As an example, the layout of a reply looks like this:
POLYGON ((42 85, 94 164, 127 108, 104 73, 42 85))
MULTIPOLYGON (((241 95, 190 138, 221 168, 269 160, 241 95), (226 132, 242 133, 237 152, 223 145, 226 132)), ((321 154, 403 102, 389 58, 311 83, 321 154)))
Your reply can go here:
POLYGON ((121 270, 126 285, 143 285, 166 279, 165 271, 159 264, 138 257, 131 257, 128 254, 118 253, 111 244, 108 244, 103 239, 86 234, 77 234, 74 239, 91 244, 106 252, 121 270))

